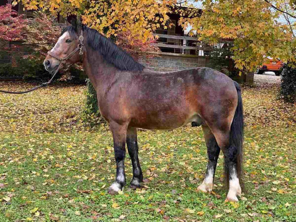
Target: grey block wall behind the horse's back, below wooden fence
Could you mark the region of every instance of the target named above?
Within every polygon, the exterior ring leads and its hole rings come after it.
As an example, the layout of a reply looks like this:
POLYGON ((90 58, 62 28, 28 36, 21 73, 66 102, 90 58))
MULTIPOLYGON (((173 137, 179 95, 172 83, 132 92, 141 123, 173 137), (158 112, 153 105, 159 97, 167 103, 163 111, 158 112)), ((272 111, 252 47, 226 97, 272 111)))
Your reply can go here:
POLYGON ((139 62, 154 71, 176 71, 206 66, 204 57, 192 55, 157 55, 150 59, 139 59, 139 62))

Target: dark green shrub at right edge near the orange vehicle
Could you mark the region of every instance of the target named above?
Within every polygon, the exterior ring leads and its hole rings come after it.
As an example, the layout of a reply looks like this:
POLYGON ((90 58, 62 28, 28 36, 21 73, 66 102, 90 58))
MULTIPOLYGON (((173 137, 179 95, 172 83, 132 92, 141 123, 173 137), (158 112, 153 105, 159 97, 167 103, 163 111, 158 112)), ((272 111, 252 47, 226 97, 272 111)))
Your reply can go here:
POLYGON ((281 73, 279 96, 287 102, 296 102, 296 64, 287 63, 281 73))

